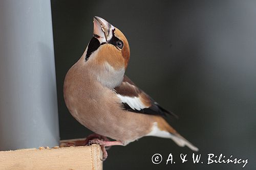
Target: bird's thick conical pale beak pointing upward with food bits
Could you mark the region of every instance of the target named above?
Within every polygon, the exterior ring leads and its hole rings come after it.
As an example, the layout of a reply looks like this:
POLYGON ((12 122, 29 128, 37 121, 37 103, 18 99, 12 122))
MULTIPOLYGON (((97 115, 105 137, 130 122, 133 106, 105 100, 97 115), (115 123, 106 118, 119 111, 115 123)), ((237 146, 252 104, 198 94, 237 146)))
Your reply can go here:
POLYGON ((94 37, 98 38, 99 41, 108 42, 112 38, 112 31, 115 29, 108 21, 105 19, 95 16, 93 19, 93 34, 94 37))

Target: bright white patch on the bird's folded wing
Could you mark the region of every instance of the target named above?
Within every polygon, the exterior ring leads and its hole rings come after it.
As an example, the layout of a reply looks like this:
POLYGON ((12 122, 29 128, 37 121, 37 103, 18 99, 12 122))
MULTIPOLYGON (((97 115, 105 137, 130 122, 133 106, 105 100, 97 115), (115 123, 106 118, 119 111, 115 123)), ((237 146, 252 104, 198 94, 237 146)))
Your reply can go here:
POLYGON ((133 110, 141 110, 144 108, 148 108, 145 106, 139 98, 137 97, 129 97, 129 96, 123 96, 120 94, 117 94, 118 98, 122 101, 122 103, 126 103, 129 105, 133 110))

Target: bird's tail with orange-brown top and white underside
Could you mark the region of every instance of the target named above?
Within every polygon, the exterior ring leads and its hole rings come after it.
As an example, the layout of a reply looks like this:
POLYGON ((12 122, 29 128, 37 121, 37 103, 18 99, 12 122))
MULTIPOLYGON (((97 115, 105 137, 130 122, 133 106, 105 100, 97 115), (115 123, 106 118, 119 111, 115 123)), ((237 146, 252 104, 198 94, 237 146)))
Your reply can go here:
POLYGON ((157 136, 173 139, 180 147, 187 146, 193 151, 198 151, 192 143, 182 137, 173 127, 171 127, 162 117, 157 116, 152 131, 147 136, 157 136))

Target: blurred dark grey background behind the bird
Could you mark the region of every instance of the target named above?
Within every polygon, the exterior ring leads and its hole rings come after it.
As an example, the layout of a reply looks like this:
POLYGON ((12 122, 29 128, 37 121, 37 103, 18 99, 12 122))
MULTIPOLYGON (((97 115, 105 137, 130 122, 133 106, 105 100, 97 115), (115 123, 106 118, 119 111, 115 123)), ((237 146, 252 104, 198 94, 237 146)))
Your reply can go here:
POLYGON ((207 165, 207 154, 249 159, 256 169, 255 1, 52 1, 61 139, 90 132, 69 113, 62 86, 93 33, 93 16, 120 29, 129 40, 126 70, 159 104, 179 115, 168 122, 195 144, 203 164, 172 140, 144 137, 112 147, 104 169, 241 169, 207 165), (153 164, 155 153, 163 156, 153 164), (166 165, 169 153, 176 164, 166 165), (181 163, 179 154, 188 154, 181 163))

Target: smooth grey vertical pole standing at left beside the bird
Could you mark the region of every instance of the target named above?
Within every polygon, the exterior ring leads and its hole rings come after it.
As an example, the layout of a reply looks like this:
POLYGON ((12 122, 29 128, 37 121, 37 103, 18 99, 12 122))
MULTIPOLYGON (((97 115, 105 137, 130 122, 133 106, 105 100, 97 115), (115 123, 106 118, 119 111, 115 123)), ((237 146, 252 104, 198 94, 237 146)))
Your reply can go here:
POLYGON ((59 141, 50 0, 0 1, 0 150, 59 141))

